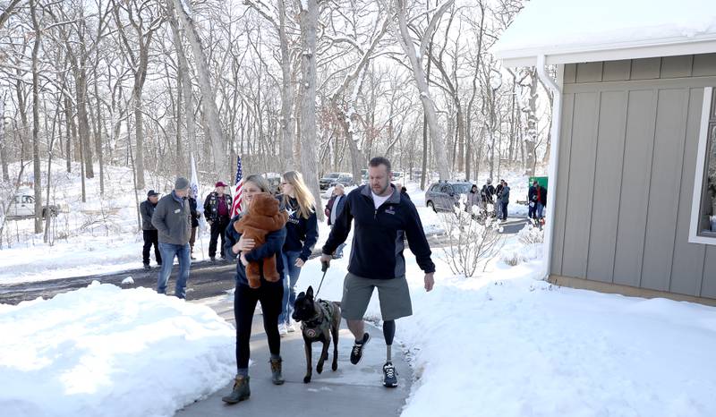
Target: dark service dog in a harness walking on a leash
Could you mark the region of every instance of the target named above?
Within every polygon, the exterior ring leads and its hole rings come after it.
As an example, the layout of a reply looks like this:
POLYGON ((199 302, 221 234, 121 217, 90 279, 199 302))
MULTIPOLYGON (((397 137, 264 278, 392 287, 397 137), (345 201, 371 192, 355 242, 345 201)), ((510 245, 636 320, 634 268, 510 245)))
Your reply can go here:
POLYGON ((313 299, 313 287, 309 286, 305 293, 298 294, 294 303, 294 320, 301 322, 303 342, 306 348, 306 376, 303 382, 311 382, 311 344, 321 342, 323 351, 320 353, 316 372, 323 371, 323 362, 328 359, 328 345, 333 337, 333 363, 331 370, 338 369, 338 328, 341 323, 339 302, 313 299))

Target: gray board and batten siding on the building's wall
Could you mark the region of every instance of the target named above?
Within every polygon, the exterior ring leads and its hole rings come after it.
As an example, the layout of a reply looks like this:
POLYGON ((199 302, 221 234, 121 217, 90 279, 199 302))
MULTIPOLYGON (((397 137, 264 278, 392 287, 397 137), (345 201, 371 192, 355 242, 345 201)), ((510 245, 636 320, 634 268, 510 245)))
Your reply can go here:
POLYGON ((716 298, 688 243, 709 86, 716 54, 565 65, 551 274, 716 298))

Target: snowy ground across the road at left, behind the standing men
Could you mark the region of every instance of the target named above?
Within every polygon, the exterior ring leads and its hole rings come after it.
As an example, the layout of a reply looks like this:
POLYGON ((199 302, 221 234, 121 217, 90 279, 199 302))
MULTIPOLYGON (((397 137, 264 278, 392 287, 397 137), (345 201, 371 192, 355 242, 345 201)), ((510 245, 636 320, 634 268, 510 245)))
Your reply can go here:
MULTIPOLYGON (((46 164, 43 162, 43 169, 46 164)), ((14 172, 18 168, 18 164, 11 165, 14 172)), ((140 202, 146 200, 147 193, 138 191, 135 199, 130 168, 107 166, 105 169, 105 196, 100 196, 99 169, 96 166, 95 178, 86 180, 87 201, 83 203, 80 166, 74 164, 72 174, 67 174, 64 161, 53 164, 54 185, 49 202, 69 209, 55 218, 52 227, 55 242, 53 245, 43 243, 42 234, 34 234, 32 219, 8 220, 4 245, 0 250, 0 285, 141 268, 143 241, 141 232, 138 232, 137 199, 140 202)), ((154 189, 165 194, 174 186, 173 178, 162 178, 149 172, 145 177, 147 190, 154 189)), ((31 183, 30 170, 23 174, 22 181, 31 183)), ((200 187, 202 197, 209 191, 213 191, 211 184, 200 187)), ((208 259, 208 251, 207 230, 197 237, 194 256, 198 260, 208 259)), ((154 264, 153 250, 151 260, 154 264)))

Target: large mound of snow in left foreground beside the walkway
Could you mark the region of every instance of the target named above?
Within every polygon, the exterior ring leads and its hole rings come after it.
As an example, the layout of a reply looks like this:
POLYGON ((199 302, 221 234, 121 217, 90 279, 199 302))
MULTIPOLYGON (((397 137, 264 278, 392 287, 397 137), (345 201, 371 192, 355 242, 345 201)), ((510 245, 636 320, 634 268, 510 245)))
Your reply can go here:
POLYGON ((235 373, 234 328, 146 288, 0 304, 0 335, 6 416, 171 416, 235 373))

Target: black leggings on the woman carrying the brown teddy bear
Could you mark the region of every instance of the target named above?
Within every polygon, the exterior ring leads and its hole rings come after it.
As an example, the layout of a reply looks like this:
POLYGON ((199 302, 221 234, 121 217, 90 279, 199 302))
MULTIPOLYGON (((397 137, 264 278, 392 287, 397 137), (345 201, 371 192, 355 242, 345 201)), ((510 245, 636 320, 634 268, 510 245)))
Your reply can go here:
POLYGON ((278 315, 281 314, 281 300, 284 298, 284 283, 279 280, 269 283, 261 278, 261 286, 253 289, 249 285, 236 285, 234 293, 234 319, 236 319, 236 365, 239 370, 249 368, 251 356, 251 323, 256 302, 261 302, 263 328, 268 337, 268 351, 281 353, 281 336, 278 335, 278 315))

